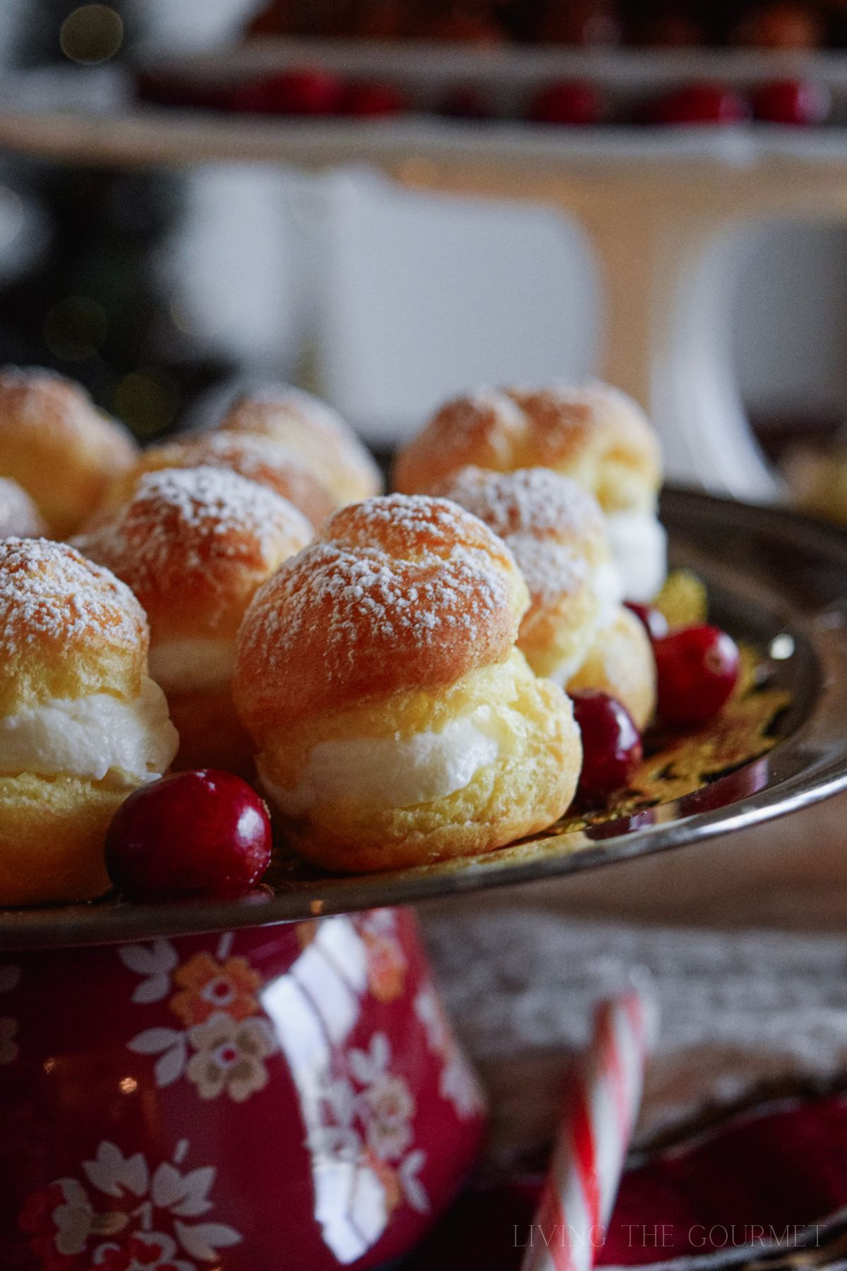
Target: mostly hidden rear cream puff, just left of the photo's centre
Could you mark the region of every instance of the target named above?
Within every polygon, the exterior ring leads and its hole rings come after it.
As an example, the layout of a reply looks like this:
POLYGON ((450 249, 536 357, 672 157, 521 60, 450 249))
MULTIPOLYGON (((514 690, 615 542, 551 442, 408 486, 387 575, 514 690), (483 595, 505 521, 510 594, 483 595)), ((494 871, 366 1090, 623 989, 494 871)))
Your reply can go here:
POLYGON ((250 393, 232 403, 218 428, 258 432, 293 450, 331 492, 337 507, 371 498, 382 478, 353 430, 320 398, 301 389, 250 393))

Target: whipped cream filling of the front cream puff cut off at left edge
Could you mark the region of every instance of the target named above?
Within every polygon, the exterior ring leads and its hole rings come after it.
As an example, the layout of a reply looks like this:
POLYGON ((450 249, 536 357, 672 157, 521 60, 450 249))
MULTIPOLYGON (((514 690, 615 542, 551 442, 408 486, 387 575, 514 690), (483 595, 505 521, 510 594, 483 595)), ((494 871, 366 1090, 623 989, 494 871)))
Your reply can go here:
POLYGON ((154 780, 179 737, 157 684, 145 679, 133 702, 93 693, 56 698, 0 719, 0 774, 71 775, 123 785, 154 780))

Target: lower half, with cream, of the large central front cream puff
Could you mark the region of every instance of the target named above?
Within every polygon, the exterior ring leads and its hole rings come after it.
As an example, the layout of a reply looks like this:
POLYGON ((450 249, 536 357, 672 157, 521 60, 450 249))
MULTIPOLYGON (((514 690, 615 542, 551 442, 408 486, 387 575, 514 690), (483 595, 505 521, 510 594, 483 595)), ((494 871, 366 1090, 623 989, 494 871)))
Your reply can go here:
POLYGON ((258 756, 296 850, 353 873, 488 852, 544 830, 568 808, 580 765, 570 702, 518 651, 438 693, 305 719, 258 756), (392 806, 415 797, 415 782, 425 801, 392 806))

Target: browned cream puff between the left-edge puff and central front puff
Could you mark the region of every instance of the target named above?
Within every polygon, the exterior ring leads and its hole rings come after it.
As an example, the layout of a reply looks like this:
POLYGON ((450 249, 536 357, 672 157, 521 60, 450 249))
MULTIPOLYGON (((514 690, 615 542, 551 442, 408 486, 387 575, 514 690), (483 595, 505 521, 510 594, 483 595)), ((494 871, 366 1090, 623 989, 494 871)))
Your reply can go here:
POLYGON ((177 768, 251 770, 230 691, 235 637, 259 583, 311 536, 296 507, 237 473, 165 468, 76 539, 147 614, 150 674, 179 730, 177 768))

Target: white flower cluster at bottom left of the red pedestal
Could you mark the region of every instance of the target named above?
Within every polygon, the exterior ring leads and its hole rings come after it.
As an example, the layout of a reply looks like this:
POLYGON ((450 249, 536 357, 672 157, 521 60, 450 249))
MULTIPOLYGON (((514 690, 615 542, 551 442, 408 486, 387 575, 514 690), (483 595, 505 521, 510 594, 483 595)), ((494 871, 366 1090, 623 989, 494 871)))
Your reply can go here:
POLYGON ((81 1162, 83 1178, 32 1195, 19 1225, 46 1271, 198 1271, 240 1243, 240 1232, 207 1216, 216 1169, 178 1168, 188 1149, 180 1140, 173 1162, 151 1169, 143 1153, 103 1140, 81 1162))

